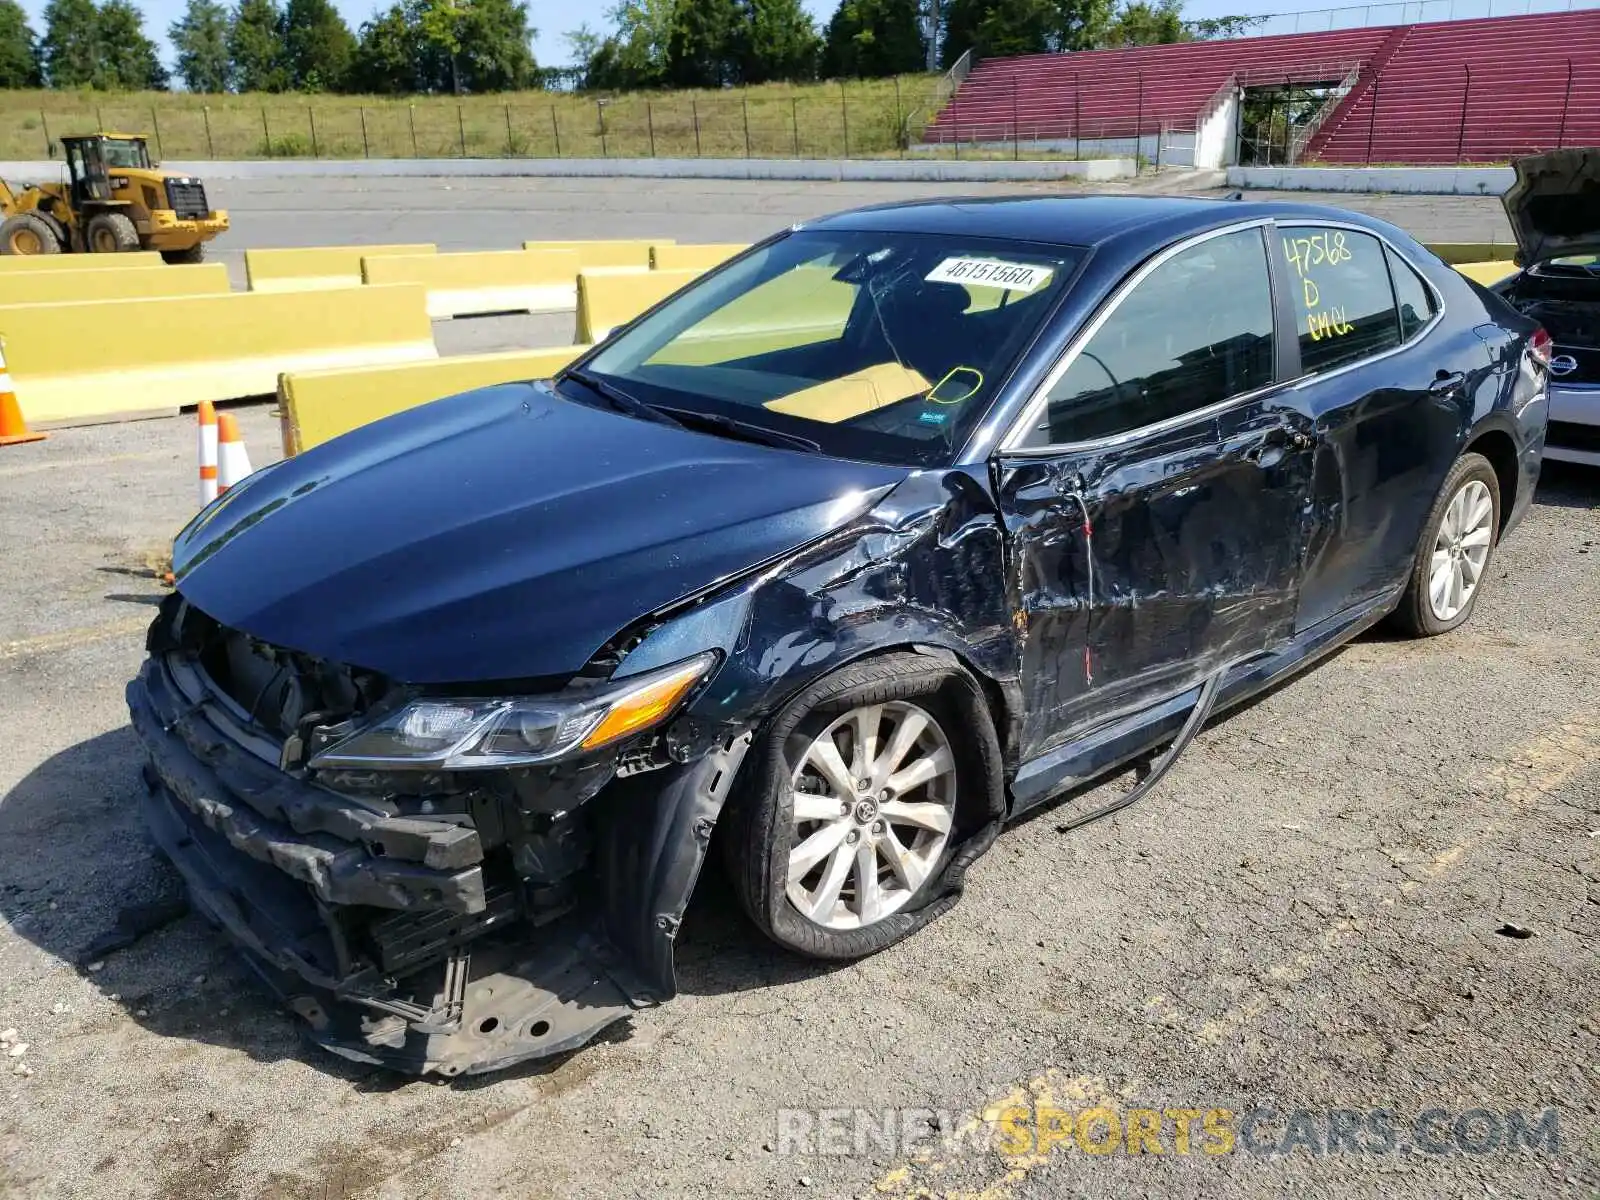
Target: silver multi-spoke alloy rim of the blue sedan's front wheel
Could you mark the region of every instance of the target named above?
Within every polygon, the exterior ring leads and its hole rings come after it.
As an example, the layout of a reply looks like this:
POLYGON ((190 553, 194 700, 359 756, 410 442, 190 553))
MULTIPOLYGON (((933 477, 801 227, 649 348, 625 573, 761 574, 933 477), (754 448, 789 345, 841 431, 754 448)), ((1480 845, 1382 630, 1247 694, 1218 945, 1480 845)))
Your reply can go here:
POLYGON ((939 722, 904 701, 851 709, 794 768, 789 902, 829 930, 898 912, 938 867, 955 819, 955 758, 939 722))

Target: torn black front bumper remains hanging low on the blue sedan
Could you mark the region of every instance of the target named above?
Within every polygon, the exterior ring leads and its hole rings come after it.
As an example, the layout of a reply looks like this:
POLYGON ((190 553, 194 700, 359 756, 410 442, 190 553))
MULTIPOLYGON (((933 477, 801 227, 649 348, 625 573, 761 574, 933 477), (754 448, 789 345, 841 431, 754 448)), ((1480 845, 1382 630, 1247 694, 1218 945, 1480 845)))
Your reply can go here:
POLYGON ((470 1075, 558 1054, 654 1000, 597 918, 536 925, 477 830, 314 787, 224 736, 160 654, 128 685, 142 802, 197 910, 309 1037, 347 1059, 470 1075))

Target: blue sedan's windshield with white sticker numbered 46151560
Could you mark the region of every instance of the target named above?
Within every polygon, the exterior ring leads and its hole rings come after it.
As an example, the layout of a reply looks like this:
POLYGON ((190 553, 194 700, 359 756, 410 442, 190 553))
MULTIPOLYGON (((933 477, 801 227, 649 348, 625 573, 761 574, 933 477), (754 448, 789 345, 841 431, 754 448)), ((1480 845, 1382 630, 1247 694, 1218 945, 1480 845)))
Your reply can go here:
POLYGON ((584 373, 835 458, 938 466, 1082 259, 1072 246, 811 230, 707 275, 584 373))

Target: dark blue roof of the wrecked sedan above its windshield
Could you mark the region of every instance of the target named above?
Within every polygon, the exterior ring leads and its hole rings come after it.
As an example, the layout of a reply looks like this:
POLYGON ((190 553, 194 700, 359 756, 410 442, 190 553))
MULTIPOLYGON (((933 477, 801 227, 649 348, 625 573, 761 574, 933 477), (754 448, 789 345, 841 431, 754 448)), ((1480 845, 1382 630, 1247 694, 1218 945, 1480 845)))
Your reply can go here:
POLYGON ((1349 221, 1384 232, 1392 229, 1360 213, 1325 205, 1189 195, 954 197, 856 208, 803 222, 802 229, 955 234, 1099 246, 1130 237, 1168 242, 1216 226, 1262 218, 1349 221))

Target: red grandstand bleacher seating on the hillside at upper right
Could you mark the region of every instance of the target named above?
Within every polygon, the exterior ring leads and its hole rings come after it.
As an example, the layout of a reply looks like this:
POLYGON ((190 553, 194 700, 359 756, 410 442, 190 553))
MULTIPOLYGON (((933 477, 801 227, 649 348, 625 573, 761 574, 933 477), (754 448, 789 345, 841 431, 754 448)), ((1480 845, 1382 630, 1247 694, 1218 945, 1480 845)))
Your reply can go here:
POLYGON ((1306 147, 1323 162, 1504 160, 1600 144, 1600 11, 987 59, 928 142, 1189 130, 1229 85, 1357 85, 1306 147), (1568 91, 1571 61, 1571 91, 1568 91), (1467 120, 1461 104, 1467 67, 1467 120), (1373 106, 1376 102, 1376 120, 1373 106))

